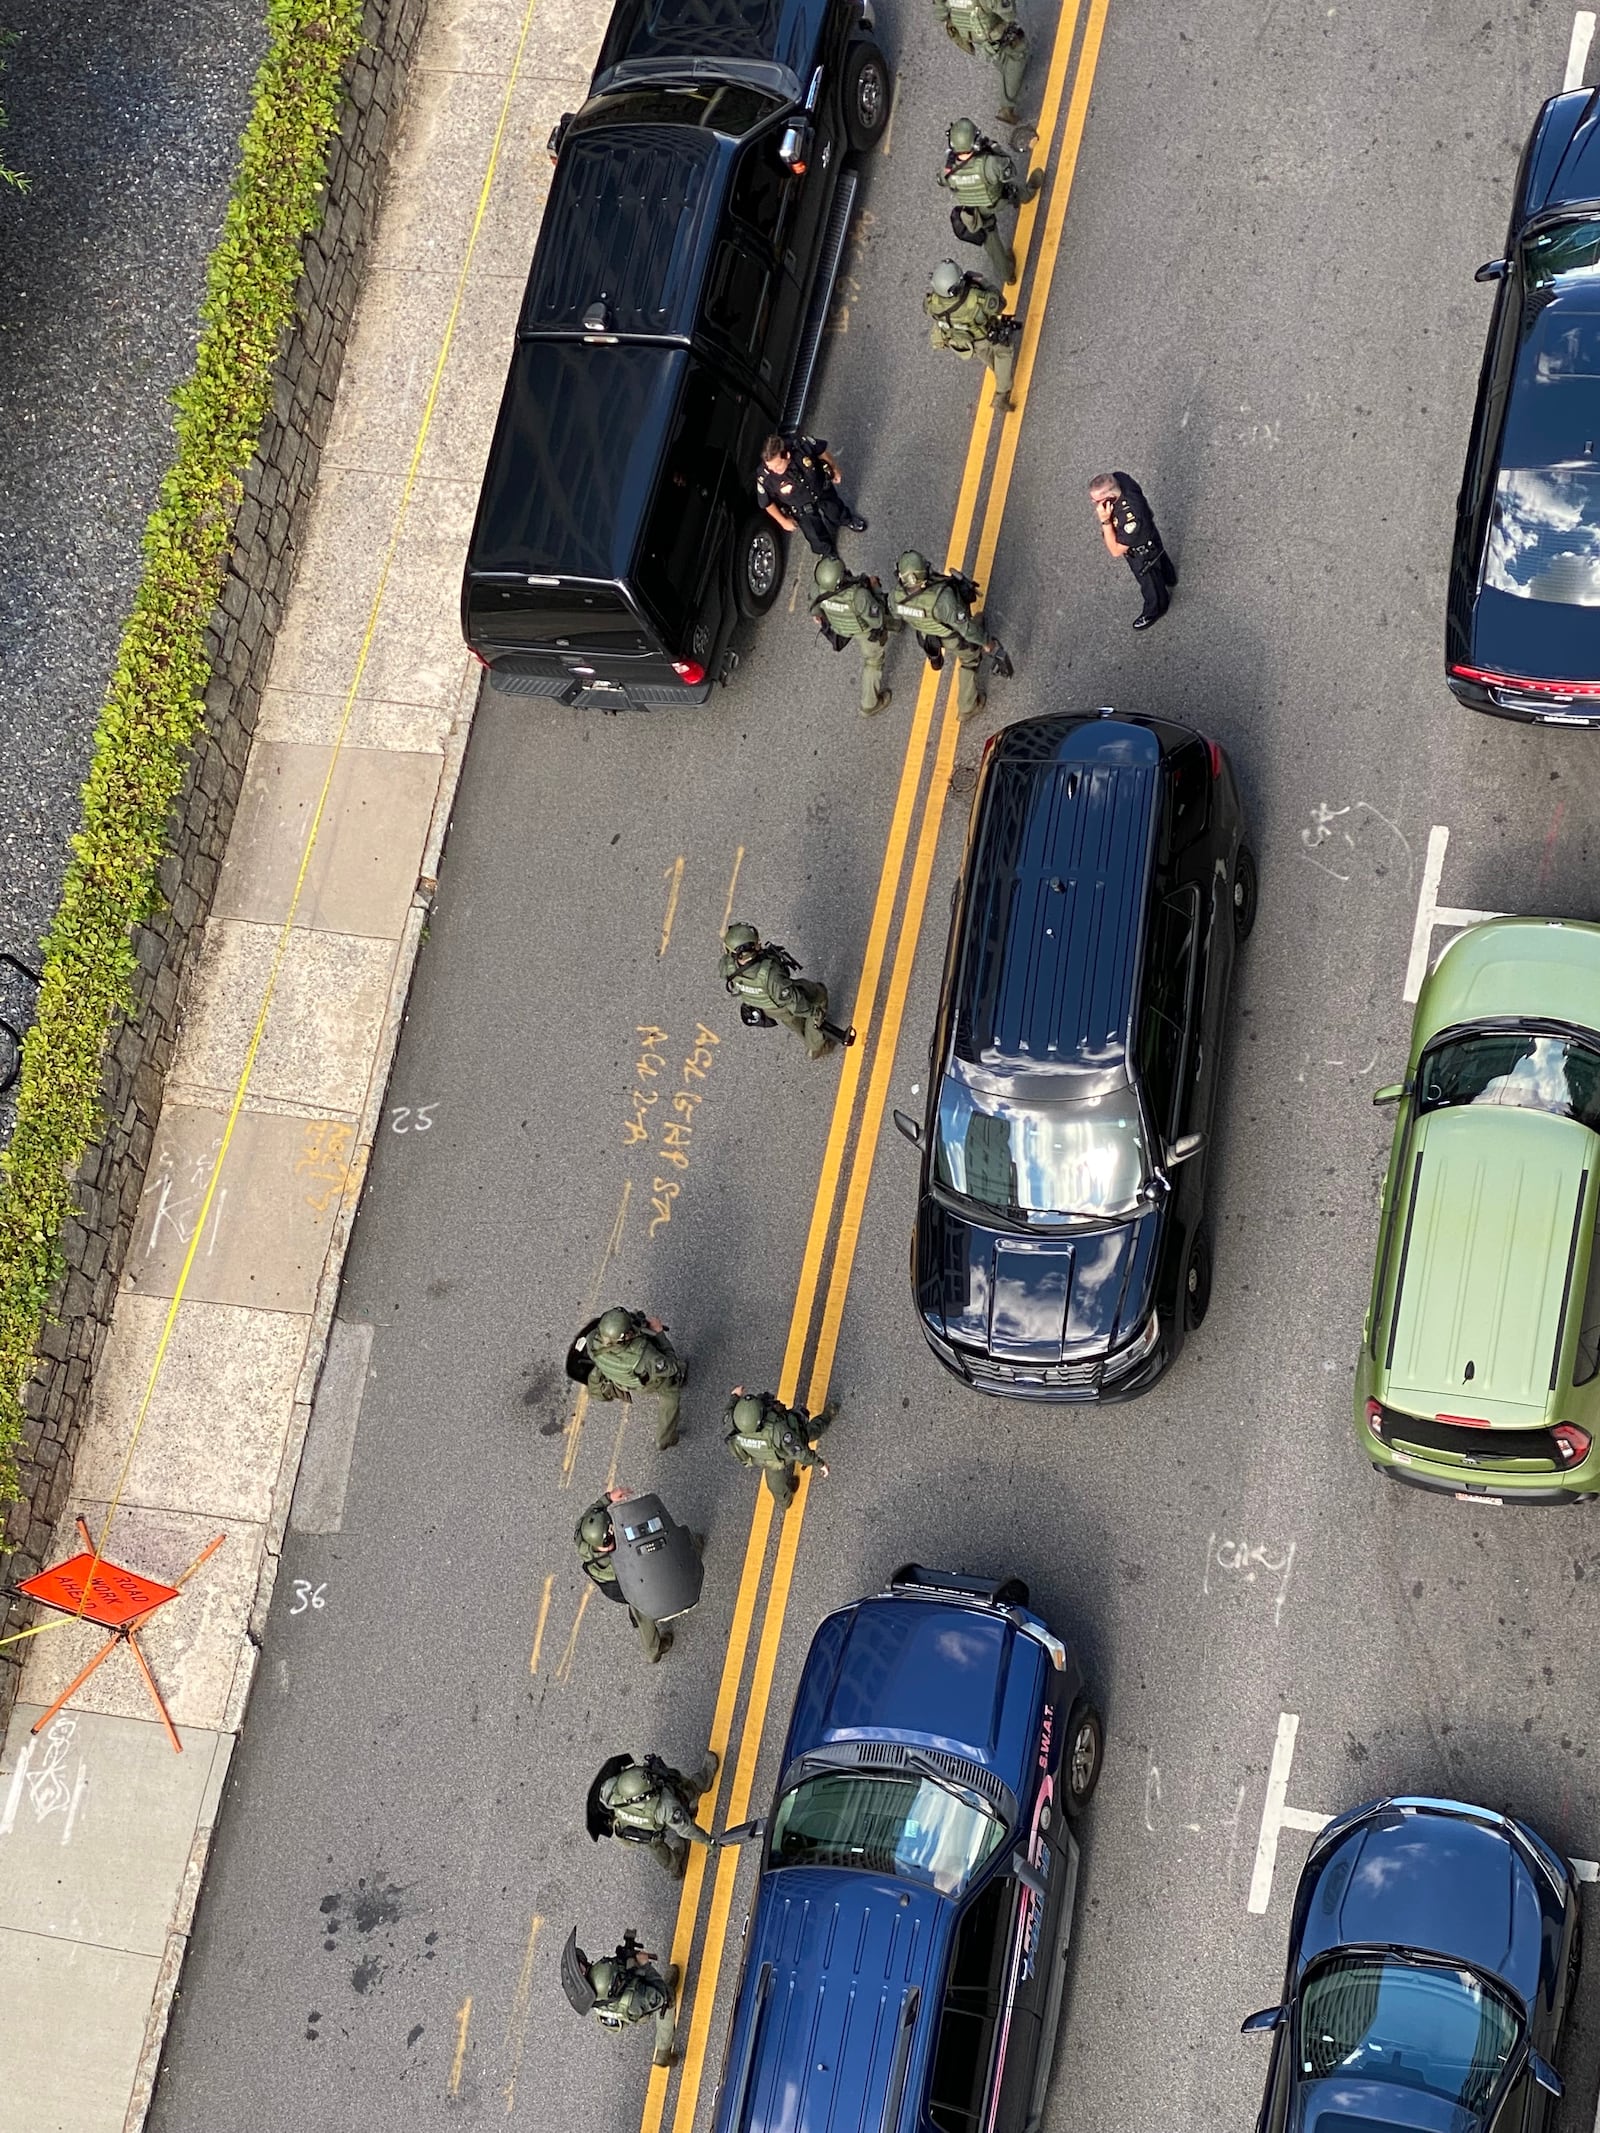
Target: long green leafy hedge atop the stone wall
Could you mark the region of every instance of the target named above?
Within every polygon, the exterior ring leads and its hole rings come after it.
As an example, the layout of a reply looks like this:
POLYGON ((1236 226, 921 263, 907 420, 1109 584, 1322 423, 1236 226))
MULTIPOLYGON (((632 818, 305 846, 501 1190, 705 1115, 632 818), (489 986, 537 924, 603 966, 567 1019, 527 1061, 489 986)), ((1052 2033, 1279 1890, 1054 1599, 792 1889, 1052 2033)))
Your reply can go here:
POLYGON ((205 631, 294 318, 301 245, 322 213, 361 13, 363 0, 267 6, 267 55, 207 271, 194 373, 175 395, 177 452, 145 527, 145 570, 94 736, 0 1156, 0 1502, 21 1493, 23 1391, 64 1271, 73 1175, 102 1130, 105 1047, 134 1011, 134 928, 158 904, 166 825, 211 678, 205 631))

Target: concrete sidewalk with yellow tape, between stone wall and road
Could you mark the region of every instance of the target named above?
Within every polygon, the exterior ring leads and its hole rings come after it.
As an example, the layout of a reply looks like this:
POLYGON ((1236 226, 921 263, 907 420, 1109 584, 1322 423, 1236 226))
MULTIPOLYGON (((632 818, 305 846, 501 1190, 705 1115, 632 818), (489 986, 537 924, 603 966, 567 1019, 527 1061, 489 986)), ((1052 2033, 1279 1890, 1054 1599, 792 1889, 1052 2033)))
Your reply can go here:
POLYGON ((226 1542, 143 1636, 181 1755, 126 1651, 32 1738, 102 1638, 75 1623, 30 1645, 0 1753, 0 2133, 143 2124, 284 1529, 290 1517, 337 1527, 361 1363, 329 1372, 337 1412, 314 1412, 311 1395, 471 723, 461 559, 548 183, 544 141, 582 96, 606 21, 604 0, 535 4, 433 0, 412 75, 55 1559, 79 1546, 73 1512, 98 1538, 111 1506, 107 1555, 147 1576, 177 1576, 220 1531, 226 1542), (478 222, 525 15, 533 32, 478 222), (358 670, 265 1037, 151 1386, 358 670), (292 1512, 307 1427, 316 1457, 292 1512))

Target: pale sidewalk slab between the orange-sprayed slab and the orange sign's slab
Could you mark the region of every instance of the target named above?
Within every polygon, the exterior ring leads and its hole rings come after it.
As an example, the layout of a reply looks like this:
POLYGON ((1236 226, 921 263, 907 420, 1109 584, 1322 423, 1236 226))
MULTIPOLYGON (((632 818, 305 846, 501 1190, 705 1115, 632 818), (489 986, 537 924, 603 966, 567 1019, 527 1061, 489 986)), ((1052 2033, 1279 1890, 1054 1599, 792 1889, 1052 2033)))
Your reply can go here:
POLYGON ((220 1521, 265 1525, 311 1320, 183 1301, 124 1474, 166 1312, 160 1297, 117 1297, 73 1485, 102 1502, 122 1485, 122 1502, 145 1510, 203 1504, 220 1521))

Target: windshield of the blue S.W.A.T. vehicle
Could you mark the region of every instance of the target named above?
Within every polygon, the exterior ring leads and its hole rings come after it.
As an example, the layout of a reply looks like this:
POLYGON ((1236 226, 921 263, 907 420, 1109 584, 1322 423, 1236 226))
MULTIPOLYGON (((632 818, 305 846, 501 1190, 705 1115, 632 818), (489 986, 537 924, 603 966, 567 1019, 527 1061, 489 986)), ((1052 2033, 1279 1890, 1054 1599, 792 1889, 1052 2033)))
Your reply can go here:
POLYGON ((932 1777, 826 1770, 779 1800, 772 1864, 860 1866, 958 1896, 1003 1837, 998 1815, 932 1777))

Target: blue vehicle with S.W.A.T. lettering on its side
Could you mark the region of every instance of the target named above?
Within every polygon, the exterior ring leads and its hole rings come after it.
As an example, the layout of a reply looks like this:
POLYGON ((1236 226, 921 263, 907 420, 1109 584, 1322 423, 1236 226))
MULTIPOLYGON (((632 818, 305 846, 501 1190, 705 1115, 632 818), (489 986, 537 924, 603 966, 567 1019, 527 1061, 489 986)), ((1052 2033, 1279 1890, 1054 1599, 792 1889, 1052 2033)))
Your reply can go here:
POLYGON ((1007 1583, 907 1566, 800 1679, 717 2133, 1030 2133, 1103 1730, 1007 1583))

